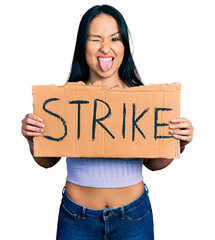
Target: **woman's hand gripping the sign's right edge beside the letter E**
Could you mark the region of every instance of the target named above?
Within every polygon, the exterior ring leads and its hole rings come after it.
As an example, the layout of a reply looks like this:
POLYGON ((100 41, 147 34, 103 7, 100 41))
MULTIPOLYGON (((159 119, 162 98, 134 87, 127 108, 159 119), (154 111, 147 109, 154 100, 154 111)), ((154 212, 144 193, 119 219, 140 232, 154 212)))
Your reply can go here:
POLYGON ((177 118, 171 121, 170 133, 174 138, 179 139, 181 143, 181 149, 193 140, 193 125, 186 118, 177 118))

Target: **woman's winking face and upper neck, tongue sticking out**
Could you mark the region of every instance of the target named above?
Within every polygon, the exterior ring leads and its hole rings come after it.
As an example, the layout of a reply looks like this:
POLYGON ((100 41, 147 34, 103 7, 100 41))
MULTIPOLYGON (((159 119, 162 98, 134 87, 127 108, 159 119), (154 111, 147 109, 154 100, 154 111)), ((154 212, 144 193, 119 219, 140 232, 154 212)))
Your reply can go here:
POLYGON ((118 77, 124 45, 117 21, 112 16, 100 14, 91 21, 85 54, 90 78, 118 77))

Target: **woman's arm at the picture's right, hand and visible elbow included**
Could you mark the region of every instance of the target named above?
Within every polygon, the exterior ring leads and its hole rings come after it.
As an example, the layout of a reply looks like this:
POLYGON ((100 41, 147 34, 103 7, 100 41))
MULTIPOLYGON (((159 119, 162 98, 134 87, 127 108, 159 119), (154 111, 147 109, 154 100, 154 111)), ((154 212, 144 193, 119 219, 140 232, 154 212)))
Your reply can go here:
MULTIPOLYGON (((170 126, 170 133, 174 138, 180 140, 181 152, 184 151, 185 145, 193 140, 193 126, 186 118, 173 119, 170 126)), ((174 159, 167 158, 145 158, 143 164, 150 170, 156 171, 167 167, 174 159)))

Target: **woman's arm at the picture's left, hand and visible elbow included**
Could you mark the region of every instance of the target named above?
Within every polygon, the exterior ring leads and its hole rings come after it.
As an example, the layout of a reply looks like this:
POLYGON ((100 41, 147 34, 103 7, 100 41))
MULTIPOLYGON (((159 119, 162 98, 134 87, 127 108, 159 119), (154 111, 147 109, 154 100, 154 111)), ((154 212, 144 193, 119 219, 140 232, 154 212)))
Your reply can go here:
MULTIPOLYGON (((22 135, 28 140, 31 155, 33 156, 33 137, 40 136, 43 132, 44 124, 42 119, 34 114, 27 114, 22 120, 22 135)), ((60 157, 34 157, 36 163, 41 167, 50 168, 54 166, 61 158, 60 157)))

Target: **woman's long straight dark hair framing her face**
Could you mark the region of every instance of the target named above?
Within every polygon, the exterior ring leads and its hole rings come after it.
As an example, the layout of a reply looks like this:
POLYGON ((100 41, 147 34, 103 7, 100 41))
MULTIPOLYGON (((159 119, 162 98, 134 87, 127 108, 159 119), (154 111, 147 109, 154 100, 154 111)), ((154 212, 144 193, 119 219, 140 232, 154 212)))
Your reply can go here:
POLYGON ((143 85, 131 55, 128 27, 125 19, 117 9, 109 5, 94 6, 90 8, 82 17, 78 29, 73 62, 68 82, 86 82, 89 79, 89 66, 87 65, 85 58, 88 29, 92 19, 101 13, 114 17, 120 29, 120 34, 125 50, 124 58, 119 68, 119 77, 125 84, 130 87, 143 85))

